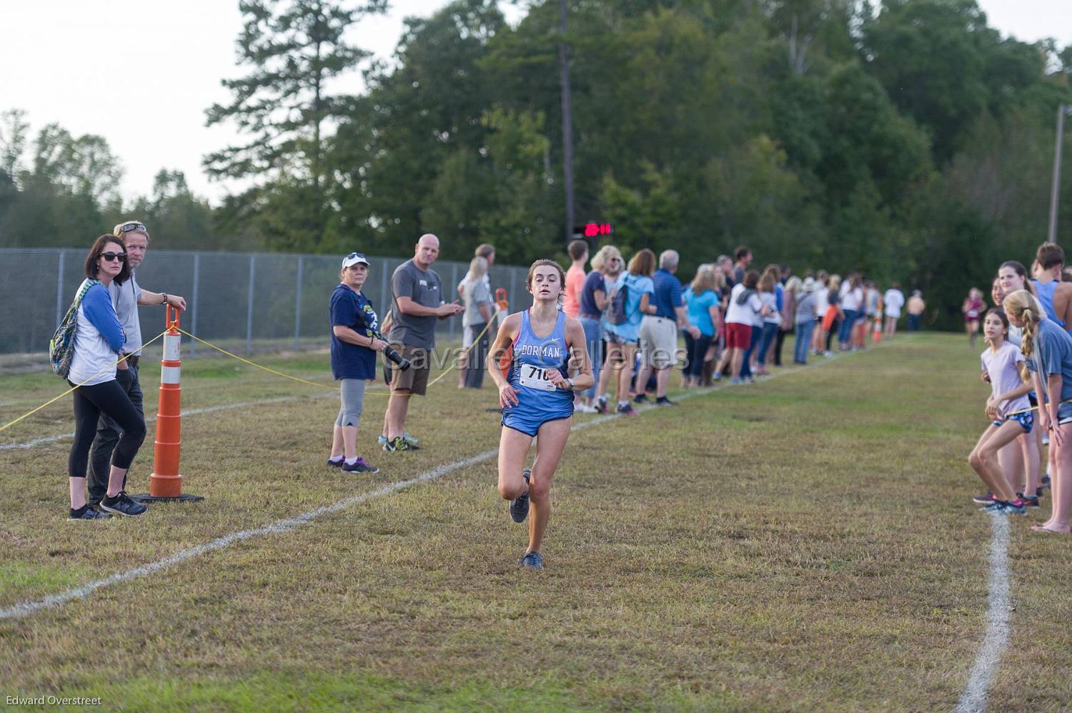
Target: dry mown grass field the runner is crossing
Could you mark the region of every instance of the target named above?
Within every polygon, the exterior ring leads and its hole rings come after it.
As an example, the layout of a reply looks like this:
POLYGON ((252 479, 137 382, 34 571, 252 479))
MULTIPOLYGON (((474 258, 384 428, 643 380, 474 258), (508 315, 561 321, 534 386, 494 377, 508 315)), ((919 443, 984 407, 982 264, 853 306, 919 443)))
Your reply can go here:
MULTIPOLYGON (((986 422, 978 358, 963 338, 906 337, 579 430, 540 573, 517 567, 526 526, 490 458, 0 620, 0 696, 154 711, 951 710, 986 629, 991 521, 966 463, 986 422)), ((330 384, 325 354, 266 362, 330 384)), ((158 377, 146 365, 147 414, 158 377)), ((324 465, 326 389, 224 359, 182 378, 184 409, 251 404, 183 420, 184 488, 203 503, 69 523, 70 440, 0 449, 0 609, 497 445, 494 389, 459 391, 451 375, 411 410, 423 449, 373 450, 378 386, 359 452, 381 472, 344 475, 324 465)), ((0 377, 0 424, 59 390, 47 373, 0 377)), ((0 445, 71 430, 64 400, 0 445)), ((147 443, 132 492, 150 470, 147 443)), ((1072 701, 1072 539, 1031 533, 1041 519, 1011 523, 995 710, 1072 701)))

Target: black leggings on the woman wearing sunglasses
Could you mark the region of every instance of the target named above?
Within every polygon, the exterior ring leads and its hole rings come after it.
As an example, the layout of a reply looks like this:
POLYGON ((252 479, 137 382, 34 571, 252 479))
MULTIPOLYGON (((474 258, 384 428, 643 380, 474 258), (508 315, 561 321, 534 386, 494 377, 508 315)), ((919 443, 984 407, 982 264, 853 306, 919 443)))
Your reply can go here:
POLYGON ((68 458, 68 475, 72 478, 86 477, 89 447, 96 435, 101 414, 114 420, 123 432, 111 456, 111 464, 116 467, 130 467, 145 441, 145 419, 119 382, 113 378, 103 384, 79 386, 74 390, 74 443, 68 458))

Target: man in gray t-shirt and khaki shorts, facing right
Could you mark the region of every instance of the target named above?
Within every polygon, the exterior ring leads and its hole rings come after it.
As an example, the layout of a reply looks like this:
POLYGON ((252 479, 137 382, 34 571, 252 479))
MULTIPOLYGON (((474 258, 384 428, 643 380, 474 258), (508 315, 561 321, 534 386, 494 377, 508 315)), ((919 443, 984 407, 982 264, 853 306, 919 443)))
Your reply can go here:
POLYGON ((413 259, 406 261, 391 277, 391 328, 387 341, 401 344, 399 350, 413 365, 402 371, 394 369, 391 397, 384 416, 384 450, 410 450, 414 442, 405 437, 405 417, 410 398, 425 395, 431 358, 435 347, 435 321, 460 314, 464 308, 457 301, 443 301, 443 283, 432 270, 440 256, 440 239, 431 233, 420 236, 413 259))

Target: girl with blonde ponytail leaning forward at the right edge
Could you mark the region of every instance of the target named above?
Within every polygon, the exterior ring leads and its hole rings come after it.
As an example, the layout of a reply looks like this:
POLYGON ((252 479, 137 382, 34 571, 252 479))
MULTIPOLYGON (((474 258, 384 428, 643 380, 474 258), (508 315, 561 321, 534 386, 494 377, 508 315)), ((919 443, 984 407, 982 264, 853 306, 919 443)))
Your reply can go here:
POLYGON ((1003 306, 1010 324, 1024 330, 1021 350, 1040 397, 1039 426, 1049 433, 1053 510, 1048 520, 1031 529, 1068 534, 1072 513, 1072 337, 1044 318, 1025 289, 1006 296, 1003 306))

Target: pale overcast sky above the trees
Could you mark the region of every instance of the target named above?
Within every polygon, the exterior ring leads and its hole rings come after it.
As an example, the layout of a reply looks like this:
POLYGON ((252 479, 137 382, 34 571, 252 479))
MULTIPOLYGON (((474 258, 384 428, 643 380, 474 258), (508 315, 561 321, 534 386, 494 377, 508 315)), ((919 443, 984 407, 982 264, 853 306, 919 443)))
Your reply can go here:
MULTIPOLYGON (((978 0, 1002 34, 1072 44, 1072 0, 978 0)), ((203 154, 241 140, 229 125, 205 127, 205 109, 225 103, 224 77, 240 76, 237 0, 0 0, 0 112, 28 112, 31 135, 58 122, 72 134, 100 134, 125 169, 125 200, 147 194, 153 175, 178 168, 213 202, 227 183, 210 182, 203 154), (119 107, 136 112, 118 115, 119 107)), ((393 0, 368 18, 357 44, 389 58, 407 16, 446 0, 393 0)), ((507 16, 517 11, 504 3, 507 16)), ((360 76, 347 78, 360 91, 360 76)))

